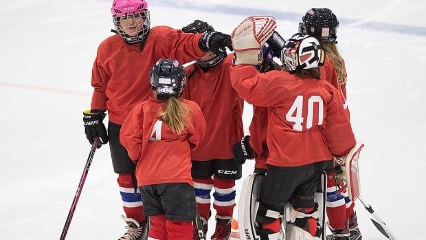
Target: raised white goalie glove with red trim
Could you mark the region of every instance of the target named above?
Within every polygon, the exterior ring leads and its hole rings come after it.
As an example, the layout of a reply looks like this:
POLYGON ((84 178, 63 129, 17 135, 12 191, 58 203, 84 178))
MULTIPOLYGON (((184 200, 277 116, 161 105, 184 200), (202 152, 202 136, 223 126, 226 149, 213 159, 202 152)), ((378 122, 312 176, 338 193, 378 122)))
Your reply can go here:
POLYGON ((234 65, 262 63, 262 45, 277 28, 276 20, 268 16, 253 16, 244 19, 231 35, 234 47, 234 65))

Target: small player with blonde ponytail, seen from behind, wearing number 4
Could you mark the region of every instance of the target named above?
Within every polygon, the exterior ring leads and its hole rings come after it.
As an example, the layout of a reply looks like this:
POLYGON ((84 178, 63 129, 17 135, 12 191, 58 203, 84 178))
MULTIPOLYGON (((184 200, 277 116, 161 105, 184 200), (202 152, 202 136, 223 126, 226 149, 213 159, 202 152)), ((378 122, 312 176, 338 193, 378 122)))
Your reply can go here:
POLYGON ((128 114, 120 142, 137 164, 149 239, 188 240, 196 204, 190 157, 203 139, 205 120, 197 103, 180 98, 186 74, 176 60, 158 61, 150 83, 154 97, 128 114))

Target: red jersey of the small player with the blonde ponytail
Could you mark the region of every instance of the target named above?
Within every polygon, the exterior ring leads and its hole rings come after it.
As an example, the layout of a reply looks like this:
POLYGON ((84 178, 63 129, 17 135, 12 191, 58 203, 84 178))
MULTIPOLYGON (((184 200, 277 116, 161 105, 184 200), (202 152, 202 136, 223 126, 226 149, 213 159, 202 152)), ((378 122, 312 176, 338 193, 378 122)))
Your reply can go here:
POLYGON ((205 132, 205 120, 197 103, 182 99, 190 112, 180 135, 158 120, 166 102, 155 98, 139 103, 128 114, 120 131, 120 142, 136 166, 137 186, 187 182, 191 177, 191 151, 205 132))

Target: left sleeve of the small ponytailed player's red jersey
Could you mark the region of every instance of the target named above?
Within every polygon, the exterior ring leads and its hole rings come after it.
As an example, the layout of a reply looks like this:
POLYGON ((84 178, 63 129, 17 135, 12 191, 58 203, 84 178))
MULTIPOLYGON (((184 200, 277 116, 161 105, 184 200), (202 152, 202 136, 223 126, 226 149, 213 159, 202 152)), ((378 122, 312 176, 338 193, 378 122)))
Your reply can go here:
POLYGON ((128 152, 128 156, 137 163, 142 153, 142 140, 144 138, 142 104, 132 109, 120 129, 120 142, 128 152))

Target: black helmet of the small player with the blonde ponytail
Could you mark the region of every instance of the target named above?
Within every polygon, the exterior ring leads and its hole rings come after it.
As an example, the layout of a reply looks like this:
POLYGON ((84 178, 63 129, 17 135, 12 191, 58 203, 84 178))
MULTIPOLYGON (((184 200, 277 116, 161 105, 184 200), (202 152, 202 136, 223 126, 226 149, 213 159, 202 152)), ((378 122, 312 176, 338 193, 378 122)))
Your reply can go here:
POLYGON ((186 73, 175 59, 160 59, 151 68, 150 83, 155 98, 168 100, 170 96, 179 98, 186 84, 186 73))

